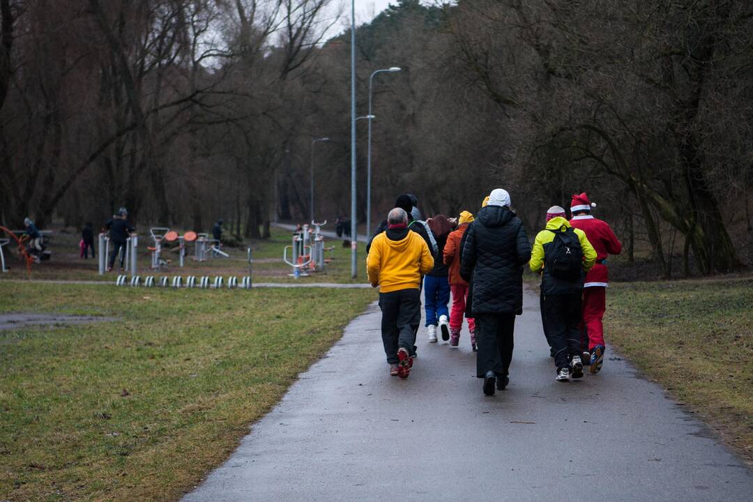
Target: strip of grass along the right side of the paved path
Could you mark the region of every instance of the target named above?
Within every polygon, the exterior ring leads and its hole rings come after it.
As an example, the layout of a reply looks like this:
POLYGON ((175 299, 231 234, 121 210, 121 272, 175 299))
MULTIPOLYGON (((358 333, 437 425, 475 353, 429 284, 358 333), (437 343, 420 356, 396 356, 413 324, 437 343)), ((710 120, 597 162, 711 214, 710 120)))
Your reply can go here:
POLYGON ((608 341, 753 465, 753 278, 613 283, 607 302, 608 341))

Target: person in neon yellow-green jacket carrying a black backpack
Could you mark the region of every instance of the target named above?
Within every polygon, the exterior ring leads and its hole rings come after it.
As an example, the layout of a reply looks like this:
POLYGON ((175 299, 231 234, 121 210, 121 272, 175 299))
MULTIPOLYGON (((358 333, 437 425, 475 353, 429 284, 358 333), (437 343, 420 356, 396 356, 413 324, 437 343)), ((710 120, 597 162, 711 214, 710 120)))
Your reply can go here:
POLYGON ((554 353, 556 380, 583 376, 581 361, 581 295, 596 251, 583 230, 573 228, 565 210, 547 211, 547 227, 536 236, 529 266, 541 272, 541 321, 554 353))

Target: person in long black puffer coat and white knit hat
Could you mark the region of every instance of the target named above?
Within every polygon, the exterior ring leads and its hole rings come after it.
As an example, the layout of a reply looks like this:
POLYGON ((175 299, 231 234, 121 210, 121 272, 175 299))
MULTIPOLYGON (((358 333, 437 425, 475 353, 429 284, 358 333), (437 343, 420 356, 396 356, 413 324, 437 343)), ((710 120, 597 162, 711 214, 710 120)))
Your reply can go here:
POLYGON ((510 195, 497 188, 465 233, 460 275, 471 281, 471 310, 476 319, 476 376, 483 393, 494 394, 509 382, 515 316, 523 313, 523 265, 531 244, 523 222, 510 208, 510 195))

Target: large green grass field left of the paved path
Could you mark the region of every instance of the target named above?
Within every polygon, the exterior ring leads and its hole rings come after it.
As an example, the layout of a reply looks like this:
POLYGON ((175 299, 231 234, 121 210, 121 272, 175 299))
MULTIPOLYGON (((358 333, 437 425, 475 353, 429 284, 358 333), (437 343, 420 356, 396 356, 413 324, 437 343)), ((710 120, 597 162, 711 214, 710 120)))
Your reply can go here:
POLYGON ((0 331, 0 500, 176 500, 376 297, 2 284, 0 312, 119 320, 0 331))

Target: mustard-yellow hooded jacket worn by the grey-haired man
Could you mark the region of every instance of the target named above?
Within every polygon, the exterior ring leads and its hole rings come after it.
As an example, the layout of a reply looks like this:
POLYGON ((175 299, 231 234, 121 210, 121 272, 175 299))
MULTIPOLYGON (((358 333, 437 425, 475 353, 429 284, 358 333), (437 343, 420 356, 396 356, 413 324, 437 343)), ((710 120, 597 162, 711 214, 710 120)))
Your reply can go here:
POLYGON ((369 282, 380 293, 401 289, 419 289, 421 276, 434 268, 434 258, 428 245, 419 234, 408 230, 407 236, 399 241, 380 233, 371 242, 366 257, 366 270, 369 282))

